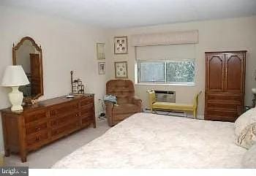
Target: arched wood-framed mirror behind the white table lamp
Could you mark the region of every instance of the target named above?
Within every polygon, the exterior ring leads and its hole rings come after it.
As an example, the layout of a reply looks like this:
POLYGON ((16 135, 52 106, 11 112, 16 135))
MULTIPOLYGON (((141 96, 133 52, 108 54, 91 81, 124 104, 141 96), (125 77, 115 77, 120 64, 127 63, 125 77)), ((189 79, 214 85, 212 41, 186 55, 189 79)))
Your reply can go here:
POLYGON ((25 100, 38 99, 44 94, 42 78, 42 48, 31 37, 23 37, 12 47, 13 65, 21 65, 29 78, 29 85, 20 86, 25 100))

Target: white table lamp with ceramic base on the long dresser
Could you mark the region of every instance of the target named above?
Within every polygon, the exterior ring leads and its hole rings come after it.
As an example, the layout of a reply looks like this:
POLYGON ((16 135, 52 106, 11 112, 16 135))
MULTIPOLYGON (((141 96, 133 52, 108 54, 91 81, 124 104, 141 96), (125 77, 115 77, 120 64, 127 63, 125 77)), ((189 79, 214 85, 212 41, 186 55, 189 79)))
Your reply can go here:
POLYGON ((7 66, 4 71, 4 77, 1 86, 11 87, 12 92, 9 93, 9 99, 12 104, 12 111, 22 111, 23 93, 18 90, 20 85, 28 85, 29 79, 26 76, 22 66, 7 66))

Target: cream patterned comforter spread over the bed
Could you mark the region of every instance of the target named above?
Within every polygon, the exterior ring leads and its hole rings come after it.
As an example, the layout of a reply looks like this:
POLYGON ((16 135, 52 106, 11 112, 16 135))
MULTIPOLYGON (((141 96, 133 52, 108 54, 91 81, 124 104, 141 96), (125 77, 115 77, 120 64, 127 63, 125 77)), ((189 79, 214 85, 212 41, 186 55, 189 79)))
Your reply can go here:
POLYGON ((138 113, 53 168, 241 168, 234 125, 138 113))

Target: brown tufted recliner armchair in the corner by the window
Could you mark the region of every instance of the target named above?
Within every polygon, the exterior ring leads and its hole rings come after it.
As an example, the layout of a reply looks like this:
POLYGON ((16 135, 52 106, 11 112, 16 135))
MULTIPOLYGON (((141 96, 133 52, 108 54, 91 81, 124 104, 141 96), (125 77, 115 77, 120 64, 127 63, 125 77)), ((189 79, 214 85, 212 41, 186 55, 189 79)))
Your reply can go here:
POLYGON ((135 97, 135 86, 131 80, 109 80, 106 84, 106 94, 117 98, 117 104, 105 102, 109 126, 141 112, 142 101, 135 97))

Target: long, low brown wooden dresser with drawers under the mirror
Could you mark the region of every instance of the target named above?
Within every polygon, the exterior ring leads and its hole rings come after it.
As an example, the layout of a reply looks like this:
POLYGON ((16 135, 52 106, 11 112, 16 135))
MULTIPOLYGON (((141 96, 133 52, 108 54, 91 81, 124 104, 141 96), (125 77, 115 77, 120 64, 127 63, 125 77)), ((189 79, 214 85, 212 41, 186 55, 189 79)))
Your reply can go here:
POLYGON ((1 110, 5 156, 20 153, 22 162, 31 150, 91 124, 96 127, 93 94, 48 99, 23 109, 20 113, 1 110))

